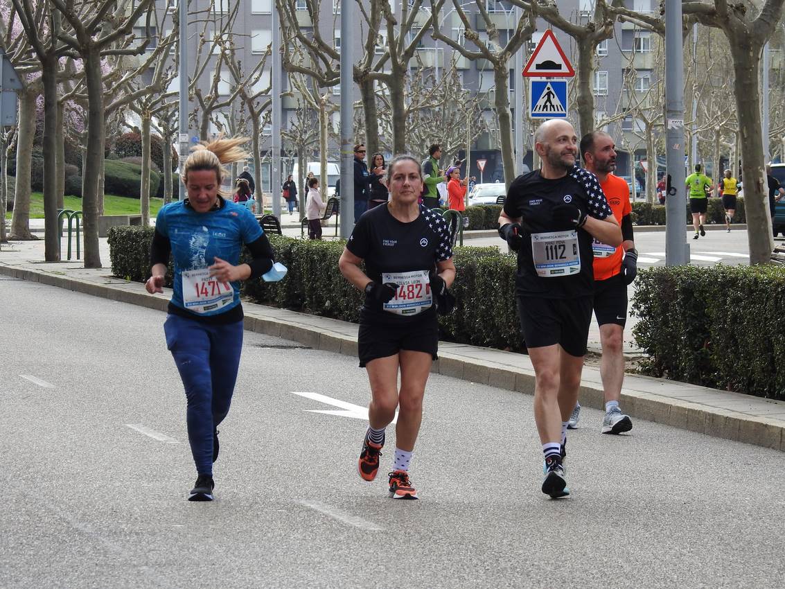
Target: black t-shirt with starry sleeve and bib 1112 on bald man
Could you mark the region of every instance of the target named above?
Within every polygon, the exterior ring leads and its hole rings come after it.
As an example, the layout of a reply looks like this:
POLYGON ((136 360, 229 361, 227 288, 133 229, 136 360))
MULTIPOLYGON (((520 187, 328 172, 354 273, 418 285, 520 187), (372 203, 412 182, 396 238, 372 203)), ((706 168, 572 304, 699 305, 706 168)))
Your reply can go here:
POLYGON ((575 230, 575 225, 556 225, 553 207, 562 203, 574 204, 597 219, 613 214, 597 177, 578 166, 555 180, 535 170, 509 186, 504 212, 509 218, 522 218, 524 229, 516 276, 521 296, 574 298, 593 293, 593 238, 585 229, 575 230))

